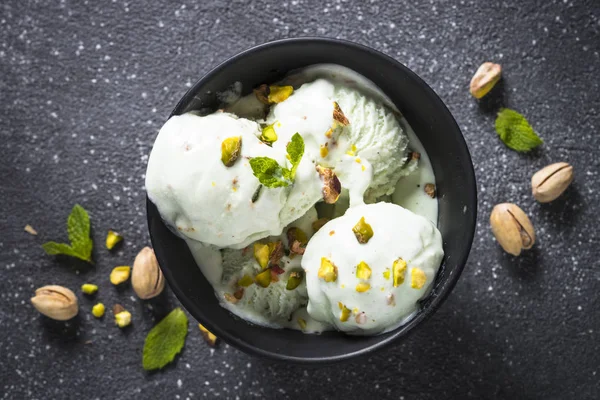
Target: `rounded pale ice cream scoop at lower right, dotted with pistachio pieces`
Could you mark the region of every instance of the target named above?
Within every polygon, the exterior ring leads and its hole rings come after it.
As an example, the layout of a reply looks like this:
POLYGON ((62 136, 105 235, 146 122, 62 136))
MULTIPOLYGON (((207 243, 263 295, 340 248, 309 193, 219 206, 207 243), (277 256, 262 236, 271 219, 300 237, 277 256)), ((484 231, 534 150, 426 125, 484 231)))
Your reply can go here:
POLYGON ((306 247, 308 314, 350 334, 394 329, 417 310, 443 255, 426 218, 391 203, 350 208, 306 247))

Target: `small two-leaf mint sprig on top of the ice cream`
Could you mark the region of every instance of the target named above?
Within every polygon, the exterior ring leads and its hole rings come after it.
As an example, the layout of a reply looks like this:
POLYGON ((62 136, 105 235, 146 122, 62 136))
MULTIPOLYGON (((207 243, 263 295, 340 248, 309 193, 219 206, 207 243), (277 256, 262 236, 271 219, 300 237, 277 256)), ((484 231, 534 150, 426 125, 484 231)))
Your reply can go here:
POLYGON ((269 188, 277 188, 286 187, 293 183, 296 170, 304 155, 304 139, 299 133, 292 136, 292 140, 286 146, 286 151, 291 168, 282 167, 277 161, 269 157, 253 157, 250 159, 252 173, 261 184, 269 188))

